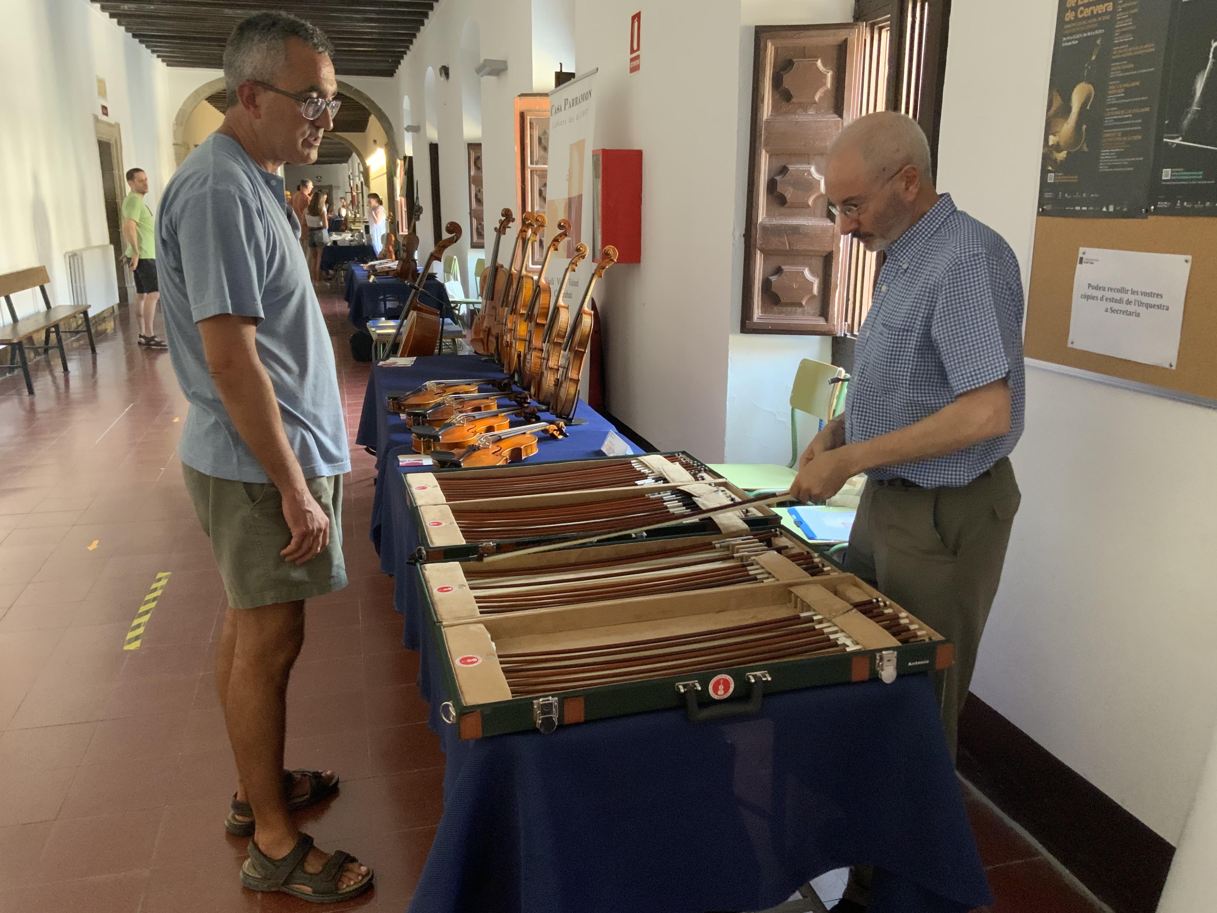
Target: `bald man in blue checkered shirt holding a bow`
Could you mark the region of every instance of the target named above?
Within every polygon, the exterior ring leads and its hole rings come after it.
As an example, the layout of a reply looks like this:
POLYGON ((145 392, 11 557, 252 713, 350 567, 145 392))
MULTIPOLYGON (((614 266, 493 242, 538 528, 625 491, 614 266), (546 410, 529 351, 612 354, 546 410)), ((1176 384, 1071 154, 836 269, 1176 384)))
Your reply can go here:
POLYGON ((842 234, 884 251, 858 334, 843 416, 815 436, 791 487, 824 500, 868 476, 847 570, 955 645, 937 673, 952 752, 1019 486, 1022 282, 1010 247, 935 190, 916 121, 849 124, 829 150, 825 191, 842 234))

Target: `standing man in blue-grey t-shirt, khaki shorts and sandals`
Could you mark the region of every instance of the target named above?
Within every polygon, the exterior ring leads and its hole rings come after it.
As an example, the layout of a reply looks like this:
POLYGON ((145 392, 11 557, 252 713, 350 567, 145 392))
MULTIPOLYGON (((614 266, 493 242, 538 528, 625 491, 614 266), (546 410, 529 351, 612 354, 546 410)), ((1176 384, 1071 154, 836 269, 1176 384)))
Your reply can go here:
POLYGON ((372 880, 291 812, 332 795, 332 771, 284 771, 287 679, 304 600, 347 586, 342 476, 350 470, 325 320, 285 202, 285 163, 316 159, 333 129, 331 45, 286 13, 258 13, 224 50, 224 124, 183 163, 157 218, 169 357, 190 401, 180 454, 229 609, 215 683, 240 786, 224 822, 251 836, 241 883, 314 902, 372 880))

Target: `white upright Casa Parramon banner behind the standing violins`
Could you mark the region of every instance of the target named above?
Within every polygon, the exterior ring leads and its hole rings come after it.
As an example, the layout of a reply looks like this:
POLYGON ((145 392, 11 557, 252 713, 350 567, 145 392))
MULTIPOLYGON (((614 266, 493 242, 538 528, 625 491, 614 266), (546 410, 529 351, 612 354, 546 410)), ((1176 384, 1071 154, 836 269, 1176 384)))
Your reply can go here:
MULTIPOLYGON (((549 94, 549 173, 546 175, 545 240, 557 234, 559 219, 571 223, 571 236, 549 262, 549 276, 561 275, 574 246, 591 246, 591 141, 596 123, 596 71, 549 94)), ((581 289, 591 275, 599 251, 590 251, 566 285, 562 299, 578 307, 581 289)))

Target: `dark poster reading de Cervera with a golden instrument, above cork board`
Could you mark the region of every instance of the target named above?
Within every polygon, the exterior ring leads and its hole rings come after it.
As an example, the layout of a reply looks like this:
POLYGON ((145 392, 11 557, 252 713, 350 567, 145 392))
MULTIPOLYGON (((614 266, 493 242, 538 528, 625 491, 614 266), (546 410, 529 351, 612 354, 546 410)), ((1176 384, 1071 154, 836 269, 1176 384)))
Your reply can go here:
POLYGON ((1144 218, 1170 0, 1060 0, 1039 213, 1144 218))

